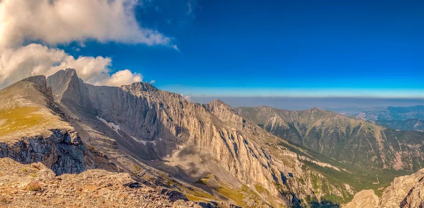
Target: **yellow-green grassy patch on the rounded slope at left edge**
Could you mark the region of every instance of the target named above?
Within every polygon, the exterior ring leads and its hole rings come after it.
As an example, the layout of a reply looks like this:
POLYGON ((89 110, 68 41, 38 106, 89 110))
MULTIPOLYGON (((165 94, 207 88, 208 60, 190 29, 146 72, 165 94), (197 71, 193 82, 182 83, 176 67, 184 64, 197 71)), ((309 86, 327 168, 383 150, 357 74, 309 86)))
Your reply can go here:
POLYGON ((19 107, 0 110, 0 136, 9 135, 30 127, 42 125, 45 118, 39 107, 19 107))

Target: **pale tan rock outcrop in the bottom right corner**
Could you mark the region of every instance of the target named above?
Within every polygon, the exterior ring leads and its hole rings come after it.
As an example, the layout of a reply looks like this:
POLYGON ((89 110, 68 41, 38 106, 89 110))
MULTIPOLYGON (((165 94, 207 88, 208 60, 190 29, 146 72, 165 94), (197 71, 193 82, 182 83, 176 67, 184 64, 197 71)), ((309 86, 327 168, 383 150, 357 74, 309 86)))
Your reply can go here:
POLYGON ((422 208, 424 207, 424 169, 396 178, 378 198, 373 190, 357 193, 344 208, 422 208))

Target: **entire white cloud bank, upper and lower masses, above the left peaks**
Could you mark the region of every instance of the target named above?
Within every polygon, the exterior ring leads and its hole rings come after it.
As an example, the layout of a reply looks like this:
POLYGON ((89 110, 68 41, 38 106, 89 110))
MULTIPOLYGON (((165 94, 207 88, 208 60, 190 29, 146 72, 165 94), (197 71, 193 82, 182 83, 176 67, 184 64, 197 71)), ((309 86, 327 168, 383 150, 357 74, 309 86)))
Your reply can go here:
POLYGON ((55 44, 72 41, 172 45, 162 33, 140 26, 137 0, 0 0, 0 89, 33 75, 75 68, 85 81, 119 86, 142 81, 129 69, 112 73, 109 57, 73 57, 55 44), (25 45, 27 42, 38 42, 25 45), (49 47, 45 45, 50 45, 49 47), (111 74, 112 73, 112 74, 111 74))

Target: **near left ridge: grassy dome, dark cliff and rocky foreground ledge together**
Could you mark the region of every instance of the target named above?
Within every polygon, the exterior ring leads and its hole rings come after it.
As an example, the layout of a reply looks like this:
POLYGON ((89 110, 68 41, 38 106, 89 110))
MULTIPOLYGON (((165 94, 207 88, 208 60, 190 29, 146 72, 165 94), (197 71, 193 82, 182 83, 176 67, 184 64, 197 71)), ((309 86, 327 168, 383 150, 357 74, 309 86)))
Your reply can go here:
POLYGON ((6 87, 0 98, 0 207, 236 208, 189 202, 180 192, 111 173, 122 170, 82 141, 44 76, 6 87))

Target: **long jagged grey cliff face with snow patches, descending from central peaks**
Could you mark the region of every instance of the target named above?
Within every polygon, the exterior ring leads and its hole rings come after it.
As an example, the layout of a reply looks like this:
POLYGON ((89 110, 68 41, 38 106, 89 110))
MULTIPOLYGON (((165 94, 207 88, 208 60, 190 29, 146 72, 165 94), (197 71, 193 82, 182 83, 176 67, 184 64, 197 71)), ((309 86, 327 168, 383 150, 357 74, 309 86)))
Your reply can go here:
MULTIPOLYGON (((230 196, 230 200, 245 207, 300 206, 308 204, 307 197, 319 201, 325 194, 334 194, 343 199, 343 193, 349 193, 343 184, 329 185, 327 193, 315 192, 310 179, 317 175, 315 170, 278 145, 279 138, 221 101, 195 104, 147 83, 93 86, 80 81, 71 69, 47 81, 71 83, 65 88, 51 87, 55 101, 73 115, 82 132, 105 132, 128 154, 180 180, 202 180, 214 194, 228 197, 223 193, 228 185, 241 193, 241 199, 230 196), (71 100, 88 103, 83 108, 81 102, 71 100)), ((326 180, 323 175, 317 178, 326 180)))

